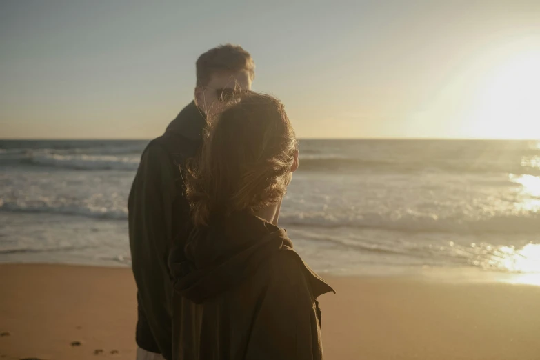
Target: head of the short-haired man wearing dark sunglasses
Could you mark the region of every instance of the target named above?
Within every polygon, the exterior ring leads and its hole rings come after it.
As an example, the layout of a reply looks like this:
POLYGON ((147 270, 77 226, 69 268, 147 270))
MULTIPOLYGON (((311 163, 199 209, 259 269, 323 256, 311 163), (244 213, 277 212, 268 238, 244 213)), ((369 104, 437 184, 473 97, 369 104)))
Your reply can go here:
POLYGON ((233 91, 251 90, 254 77, 255 63, 241 46, 226 44, 210 49, 197 59, 195 103, 209 116, 233 91))

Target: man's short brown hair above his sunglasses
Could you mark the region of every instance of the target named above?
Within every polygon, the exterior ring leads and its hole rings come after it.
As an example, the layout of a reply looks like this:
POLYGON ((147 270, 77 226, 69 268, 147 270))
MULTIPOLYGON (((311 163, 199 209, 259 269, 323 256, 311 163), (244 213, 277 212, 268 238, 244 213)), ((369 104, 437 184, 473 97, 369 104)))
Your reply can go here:
POLYGON ((249 52, 230 43, 217 46, 197 59, 197 86, 206 86, 214 74, 246 71, 251 80, 255 77, 255 63, 249 52))

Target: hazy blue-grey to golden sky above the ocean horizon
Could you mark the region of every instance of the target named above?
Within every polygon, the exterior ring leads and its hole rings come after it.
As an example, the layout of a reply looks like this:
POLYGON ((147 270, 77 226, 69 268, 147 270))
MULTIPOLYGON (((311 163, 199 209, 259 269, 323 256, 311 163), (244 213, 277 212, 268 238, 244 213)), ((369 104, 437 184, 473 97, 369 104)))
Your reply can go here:
POLYGON ((540 1, 0 2, 0 138, 150 139, 238 43, 300 138, 540 138, 540 1))

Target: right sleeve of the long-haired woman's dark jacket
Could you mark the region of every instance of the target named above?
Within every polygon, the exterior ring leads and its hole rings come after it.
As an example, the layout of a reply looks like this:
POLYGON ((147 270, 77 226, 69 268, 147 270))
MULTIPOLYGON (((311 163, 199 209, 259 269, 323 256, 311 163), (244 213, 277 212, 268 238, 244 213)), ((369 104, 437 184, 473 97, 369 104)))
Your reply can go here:
POLYGON ((317 304, 296 259, 274 266, 255 315, 248 360, 321 360, 317 304))

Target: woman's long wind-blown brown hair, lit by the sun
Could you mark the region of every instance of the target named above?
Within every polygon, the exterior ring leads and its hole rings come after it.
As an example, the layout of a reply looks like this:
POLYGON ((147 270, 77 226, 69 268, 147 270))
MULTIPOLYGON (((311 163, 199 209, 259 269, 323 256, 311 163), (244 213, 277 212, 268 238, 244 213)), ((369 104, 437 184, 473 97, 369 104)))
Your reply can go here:
POLYGON ((279 201, 295 152, 297 139, 279 100, 250 92, 226 104, 209 121, 200 157, 188 163, 194 226, 279 201))

